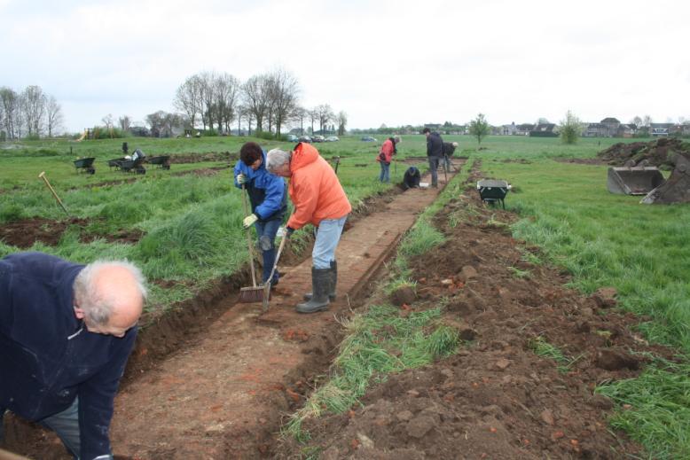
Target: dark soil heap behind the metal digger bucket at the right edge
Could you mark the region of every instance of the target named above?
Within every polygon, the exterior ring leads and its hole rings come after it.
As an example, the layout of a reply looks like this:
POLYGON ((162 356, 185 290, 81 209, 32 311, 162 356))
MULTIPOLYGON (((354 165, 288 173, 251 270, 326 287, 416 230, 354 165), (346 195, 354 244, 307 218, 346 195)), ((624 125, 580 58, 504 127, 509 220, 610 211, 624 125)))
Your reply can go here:
POLYGON ((671 159, 675 152, 690 152, 690 145, 673 137, 661 137, 651 142, 613 144, 597 156, 611 166, 655 166, 670 169, 673 168, 671 159))

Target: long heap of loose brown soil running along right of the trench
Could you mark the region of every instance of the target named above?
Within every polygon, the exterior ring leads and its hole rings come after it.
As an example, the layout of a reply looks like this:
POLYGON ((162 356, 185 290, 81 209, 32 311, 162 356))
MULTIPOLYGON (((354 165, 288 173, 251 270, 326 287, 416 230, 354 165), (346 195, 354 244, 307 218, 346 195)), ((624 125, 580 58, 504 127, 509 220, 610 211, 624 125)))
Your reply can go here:
POLYGON ((310 420, 302 425, 308 444, 288 441, 281 455, 310 449, 324 459, 639 454, 638 445, 608 427, 613 403, 592 392, 601 381, 639 372, 644 360, 629 350, 650 351, 631 332, 639 318, 608 309, 615 291, 583 297, 563 287, 568 279, 560 271, 530 263, 534 257, 525 254, 538 255, 537 249, 511 238, 501 223, 514 216, 482 207, 474 191, 438 216, 435 225, 448 239, 411 262, 419 294, 411 307, 445 304, 444 321, 473 341, 442 362, 388 376, 359 408, 310 420), (545 344, 561 350, 561 363, 537 355, 545 344))

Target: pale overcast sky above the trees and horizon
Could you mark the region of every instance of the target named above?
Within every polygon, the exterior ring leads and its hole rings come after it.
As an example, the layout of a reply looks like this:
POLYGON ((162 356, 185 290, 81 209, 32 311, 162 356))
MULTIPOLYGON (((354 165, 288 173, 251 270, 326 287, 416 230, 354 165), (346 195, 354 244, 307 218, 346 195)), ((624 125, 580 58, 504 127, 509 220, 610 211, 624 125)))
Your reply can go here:
POLYGON ((494 125, 690 118, 690 2, 0 0, 0 86, 39 85, 66 128, 173 111, 204 70, 277 66, 349 128, 485 113, 494 125))

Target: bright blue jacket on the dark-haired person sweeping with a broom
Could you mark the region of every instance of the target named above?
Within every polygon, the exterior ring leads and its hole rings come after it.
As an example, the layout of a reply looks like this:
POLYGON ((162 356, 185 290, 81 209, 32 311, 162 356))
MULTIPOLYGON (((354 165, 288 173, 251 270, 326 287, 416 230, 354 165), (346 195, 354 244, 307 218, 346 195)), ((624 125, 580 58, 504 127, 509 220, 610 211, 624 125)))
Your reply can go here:
POLYGON ((245 186, 249 192, 249 201, 252 204, 252 212, 261 222, 283 219, 287 211, 287 194, 285 181, 279 175, 272 175, 266 169, 266 152, 263 152, 263 161, 256 170, 239 160, 235 165, 235 187, 241 189, 237 183, 237 175, 246 175, 249 179, 245 186))

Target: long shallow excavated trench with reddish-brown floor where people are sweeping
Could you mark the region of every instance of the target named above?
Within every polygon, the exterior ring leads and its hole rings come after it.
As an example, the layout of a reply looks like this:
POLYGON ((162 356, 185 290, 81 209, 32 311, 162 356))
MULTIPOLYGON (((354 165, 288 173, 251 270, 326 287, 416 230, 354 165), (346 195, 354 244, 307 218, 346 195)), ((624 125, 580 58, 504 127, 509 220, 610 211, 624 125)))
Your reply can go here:
MULTIPOLYGON (((198 300, 208 308, 160 318, 176 329, 147 328, 115 400, 114 452, 132 458, 271 456, 282 417, 302 405, 310 380, 331 362, 341 336, 338 318, 365 299, 404 232, 443 190, 443 175, 439 183, 441 189, 386 199, 343 233, 336 254, 339 298, 325 313, 294 312, 302 293, 310 292, 308 258, 283 269, 267 313, 260 303, 236 303, 235 286, 216 285, 198 300)), ((16 419, 8 425, 8 448, 35 458, 68 458, 54 434, 27 432, 16 419)))

